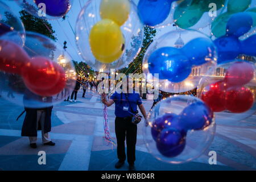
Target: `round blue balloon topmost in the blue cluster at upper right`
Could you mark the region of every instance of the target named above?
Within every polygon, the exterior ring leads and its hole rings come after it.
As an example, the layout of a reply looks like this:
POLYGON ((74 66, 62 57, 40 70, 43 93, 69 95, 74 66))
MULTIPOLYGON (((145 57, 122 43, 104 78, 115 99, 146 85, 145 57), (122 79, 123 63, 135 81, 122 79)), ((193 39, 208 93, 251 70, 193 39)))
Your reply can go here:
POLYGON ((231 16, 226 25, 226 35, 240 37, 253 27, 253 18, 248 13, 237 13, 231 16))

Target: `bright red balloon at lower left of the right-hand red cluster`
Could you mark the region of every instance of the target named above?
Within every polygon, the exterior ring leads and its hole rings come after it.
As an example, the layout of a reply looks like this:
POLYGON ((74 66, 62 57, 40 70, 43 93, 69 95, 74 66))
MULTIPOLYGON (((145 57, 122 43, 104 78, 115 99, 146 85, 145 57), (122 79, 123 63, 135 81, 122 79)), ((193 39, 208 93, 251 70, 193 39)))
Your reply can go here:
POLYGON ((206 86, 203 90, 201 100, 207 104, 213 112, 225 110, 225 86, 223 81, 215 82, 206 86))

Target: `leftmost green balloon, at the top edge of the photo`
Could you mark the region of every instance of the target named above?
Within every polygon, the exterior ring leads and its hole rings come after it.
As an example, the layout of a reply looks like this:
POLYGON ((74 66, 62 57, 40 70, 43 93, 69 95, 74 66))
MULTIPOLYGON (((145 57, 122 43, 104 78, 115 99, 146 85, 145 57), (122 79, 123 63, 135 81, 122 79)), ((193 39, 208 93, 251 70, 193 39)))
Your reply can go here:
POLYGON ((200 9, 199 2, 199 0, 193 2, 185 0, 177 6, 174 11, 174 19, 178 27, 185 29, 199 22, 204 14, 204 11, 200 9))

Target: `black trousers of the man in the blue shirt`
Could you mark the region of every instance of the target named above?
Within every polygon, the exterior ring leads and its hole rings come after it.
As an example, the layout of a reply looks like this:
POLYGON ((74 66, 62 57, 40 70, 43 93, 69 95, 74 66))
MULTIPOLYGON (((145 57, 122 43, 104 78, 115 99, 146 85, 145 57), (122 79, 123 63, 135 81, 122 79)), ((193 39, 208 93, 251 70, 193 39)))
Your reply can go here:
POLYGON ((137 125, 131 123, 131 118, 115 118, 115 136, 117 137, 117 157, 120 162, 124 162, 125 137, 127 146, 127 162, 135 162, 135 146, 137 142, 137 125))

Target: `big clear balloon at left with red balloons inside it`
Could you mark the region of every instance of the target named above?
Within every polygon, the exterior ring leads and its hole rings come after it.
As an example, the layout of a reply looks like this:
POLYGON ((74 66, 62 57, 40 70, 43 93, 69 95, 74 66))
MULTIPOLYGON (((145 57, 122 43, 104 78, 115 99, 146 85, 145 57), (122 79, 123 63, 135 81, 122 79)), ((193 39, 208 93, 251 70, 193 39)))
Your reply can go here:
POLYGON ((26 32, 24 47, 0 37, 1 96, 32 108, 55 105, 71 94, 76 71, 64 49, 44 35, 26 32))

